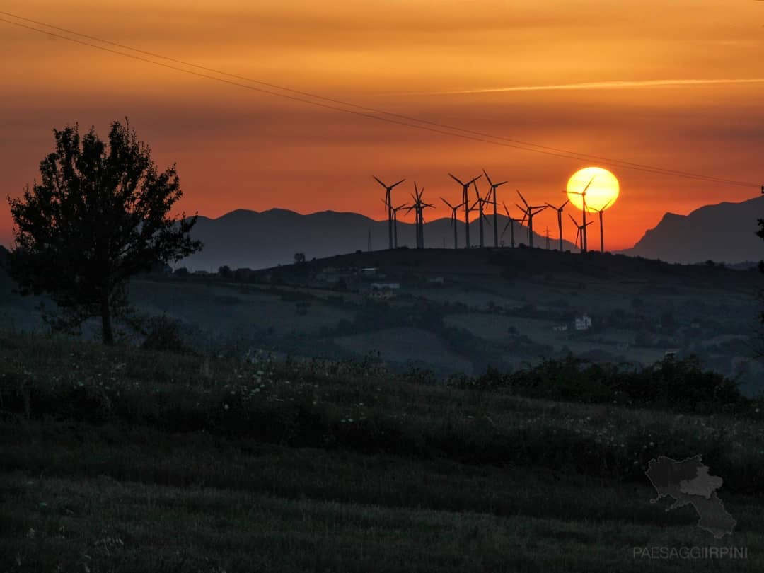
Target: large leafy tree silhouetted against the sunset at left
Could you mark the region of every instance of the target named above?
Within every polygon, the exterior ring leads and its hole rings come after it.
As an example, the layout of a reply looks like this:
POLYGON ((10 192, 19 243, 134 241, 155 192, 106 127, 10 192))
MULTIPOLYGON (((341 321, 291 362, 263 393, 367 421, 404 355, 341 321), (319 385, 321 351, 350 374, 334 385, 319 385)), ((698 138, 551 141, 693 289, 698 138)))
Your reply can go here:
POLYGON ((112 123, 108 141, 95 128, 81 138, 79 125, 53 135, 40 183, 8 197, 11 274, 22 294, 47 293, 57 303, 57 316, 46 317, 54 328, 79 329, 100 316, 102 340, 112 344, 112 318, 130 309, 128 279, 202 248, 189 236, 196 215, 170 215, 182 195, 175 166, 158 173, 127 120, 112 123))

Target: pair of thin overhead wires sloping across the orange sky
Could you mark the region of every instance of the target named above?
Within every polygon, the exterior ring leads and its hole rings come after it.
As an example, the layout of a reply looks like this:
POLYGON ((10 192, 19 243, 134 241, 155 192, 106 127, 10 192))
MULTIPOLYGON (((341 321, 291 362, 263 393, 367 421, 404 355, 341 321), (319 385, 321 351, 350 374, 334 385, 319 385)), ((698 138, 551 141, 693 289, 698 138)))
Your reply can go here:
POLYGON ((285 98, 285 99, 290 99, 290 100, 293 100, 293 101, 296 101, 296 102, 307 103, 309 105, 316 105, 316 106, 319 106, 319 107, 322 107, 322 108, 329 108, 329 109, 332 109, 332 110, 338 111, 338 112, 345 112, 345 113, 350 113, 350 114, 358 115, 358 116, 365 117, 365 118, 377 119, 378 121, 387 121, 388 123, 393 123, 393 124, 397 124, 397 125, 404 125, 406 127, 421 129, 421 130, 425 130, 425 131, 431 131, 433 133, 438 133, 438 134, 451 135, 453 137, 469 139, 469 140, 472 140, 472 141, 481 141, 483 143, 494 144, 494 145, 501 145, 503 147, 512 147, 514 149, 520 149, 522 151, 533 151, 535 153, 551 155, 551 156, 554 156, 554 157, 563 157, 565 159, 573 159, 573 160, 597 160, 597 161, 599 161, 601 163, 606 163, 606 164, 609 164, 610 166, 613 166, 613 167, 623 167, 623 168, 626 168, 626 169, 644 171, 646 173, 656 173, 656 174, 659 174, 659 175, 667 175, 667 176, 678 176, 678 177, 682 177, 682 178, 686 178, 686 179, 694 179, 694 180, 706 181, 706 182, 709 182, 709 183, 726 183, 728 185, 735 185, 735 186, 755 186, 755 187, 759 187, 759 184, 757 184, 757 183, 750 183, 750 182, 738 181, 738 180, 730 180, 730 179, 725 179, 725 178, 722 178, 722 177, 707 176, 707 175, 702 175, 700 173, 691 173, 691 172, 687 172, 687 171, 669 170, 669 169, 665 169, 663 167, 650 166, 650 165, 647 165, 645 163, 633 163, 633 162, 630 162, 630 161, 617 160, 617 159, 613 159, 613 158, 609 158, 609 157, 602 157, 602 156, 591 155, 591 154, 582 154, 582 153, 578 153, 576 151, 568 151, 568 150, 560 149, 560 148, 557 148, 557 147, 548 147, 548 146, 543 146, 543 145, 532 144, 532 143, 529 143, 529 142, 526 142, 526 141, 520 141, 520 140, 514 140, 514 139, 510 139, 510 138, 505 138, 503 136, 489 134, 489 133, 485 133, 485 132, 482 132, 482 131, 472 131, 472 130, 468 130, 468 129, 464 129, 464 128, 458 128, 458 127, 453 126, 453 125, 447 125, 447 124, 438 123, 438 122, 435 122, 435 121, 427 121, 427 120, 423 120, 423 119, 419 119, 419 118, 413 118, 413 117, 407 116, 407 115, 401 115, 401 114, 396 114, 396 113, 392 113, 392 112, 386 112, 384 110, 380 110, 380 109, 377 109, 377 108, 371 108, 371 107, 367 107, 367 106, 364 106, 364 105, 357 105, 357 104, 350 103, 350 102, 344 102, 344 101, 342 101, 340 99, 327 98, 327 97, 324 97, 322 95, 312 94, 310 92, 303 92, 303 91, 299 91, 299 90, 296 90, 296 89, 290 89, 290 88, 286 88, 286 87, 283 87, 283 86, 278 86, 278 85, 272 84, 272 83, 262 82, 260 80, 248 78, 246 76, 237 76, 235 74, 223 72, 221 70, 216 70, 215 68, 209 68, 209 67, 206 67, 206 66, 199 66, 199 65, 194 64, 194 63, 189 63, 189 62, 185 62, 183 60, 177 60, 177 59, 172 58, 172 57, 163 56, 163 55, 161 55, 159 53, 149 52, 149 51, 146 51, 146 50, 139 50, 138 48, 130 47, 130 46, 127 46, 125 44, 117 44, 115 42, 112 42, 112 41, 109 41, 109 40, 104 40, 104 39, 99 38, 99 37, 89 36, 87 34, 81 34, 79 32, 68 30, 66 28, 60 28, 60 27, 54 26, 53 24, 47 24, 46 22, 32 20, 31 18, 24 18, 24 17, 18 16, 18 15, 12 14, 11 12, 0 11, 0 14, 10 16, 11 18, 17 18, 19 20, 28 21, 28 22, 31 22, 31 23, 34 23, 34 24, 38 24, 38 25, 44 26, 46 28, 51 28, 53 30, 63 31, 66 34, 73 34, 73 35, 76 35, 76 36, 79 36, 79 37, 85 37, 85 38, 87 38, 89 40, 95 40, 97 42, 101 42, 102 44, 108 44, 108 45, 111 45, 111 46, 114 46, 114 47, 119 47, 119 48, 121 48, 123 50, 131 50, 131 51, 136 52, 136 53, 142 53, 142 54, 144 54, 146 56, 151 56, 151 57, 154 57, 154 58, 159 58, 161 60, 166 60, 166 61, 169 61, 169 62, 178 63, 178 64, 183 65, 183 66, 193 67, 193 68, 196 68, 197 70, 204 70, 206 72, 219 74, 221 76, 228 76, 230 78, 241 79, 241 80, 249 82, 249 83, 256 83, 256 84, 261 85, 261 86, 266 86, 267 88, 270 88, 270 89, 264 89, 264 88, 257 88, 257 87, 254 87, 254 86, 248 86, 246 84, 234 82, 234 81, 231 81, 231 80, 228 80, 228 79, 223 79, 223 78, 219 78, 219 77, 216 77, 216 76, 210 76, 209 74, 206 74, 206 73, 198 73, 198 72, 194 72, 192 70, 185 70, 183 68, 180 68, 180 67, 177 67, 177 66, 172 66, 172 65, 169 65, 167 63, 161 63, 161 62, 157 62, 157 61, 154 61, 154 60, 149 60, 148 58, 136 56, 136 55, 131 54, 131 53, 125 53, 125 52, 121 52, 119 50, 112 50, 111 48, 108 48, 108 47, 99 46, 97 44, 90 44, 89 42, 85 42, 83 40, 77 40, 76 38, 63 36, 61 34, 55 34, 53 32, 47 31, 47 30, 40 30, 40 28, 34 28, 33 26, 29 26, 27 24, 21 24, 20 22, 15 22, 15 21, 7 20, 5 18, 0 18, 0 21, 3 21, 5 23, 7 23, 7 24, 12 24, 12 25, 18 26, 20 28, 26 28, 26 29, 31 30, 31 31, 36 31, 36 32, 39 32, 40 34, 47 34, 47 35, 51 35, 53 37, 59 37, 59 38, 61 38, 63 40, 69 40, 70 42, 73 42, 73 43, 76 43, 76 44, 81 44, 81 45, 84 45, 84 46, 87 46, 87 47, 92 47, 92 48, 95 48, 97 50, 102 50, 102 51, 105 51, 105 52, 108 52, 108 53, 114 53, 114 54, 117 54, 119 56, 128 57, 128 58, 131 58, 131 59, 134 59, 134 60, 139 60, 139 61, 142 61, 142 62, 145 62, 145 63, 152 63, 152 64, 154 64, 156 66, 161 66, 161 67, 164 67, 164 68, 167 68, 167 69, 170 69, 170 70, 175 70, 175 71, 179 71, 179 72, 182 72, 182 73, 188 73, 190 75, 199 76, 199 77, 206 78, 206 79, 212 79, 212 80, 215 80, 215 81, 218 81, 218 82, 221 82, 221 83, 228 83, 228 84, 233 85, 233 86, 239 86, 239 87, 243 87, 245 89, 251 89, 251 90, 254 90, 254 91, 257 91, 257 92, 267 93, 269 95, 274 95, 274 96, 277 96, 277 97, 281 97, 281 98, 285 98), (280 92, 274 92, 273 89, 277 89, 277 90, 280 90, 282 92, 290 92, 290 93, 297 94, 297 95, 288 95, 288 94, 284 94, 284 93, 280 93, 280 92), (298 96, 304 96, 304 97, 298 97, 298 96), (305 97, 312 98, 312 99, 318 99, 318 100, 321 100, 321 101, 316 102, 316 101, 312 101, 311 99, 305 99, 305 97), (329 102, 329 103, 322 103, 322 102, 329 102), (331 104, 336 104, 336 105, 331 105, 331 104), (345 106, 345 107, 338 107, 338 105, 342 105, 342 106, 345 106), (354 108, 354 109, 347 109, 347 108, 354 108), (359 112, 359 111, 356 111, 356 110, 362 110, 362 111, 359 112), (384 116, 389 116, 389 117, 380 117, 380 116, 383 116, 383 115, 384 116), (391 119, 391 118, 399 118, 399 119, 391 119), (402 120, 405 120, 405 121, 402 121, 402 120), (412 121, 416 122, 417 124, 423 124, 423 125, 413 124, 413 123, 411 123, 412 121), (432 126, 432 127, 429 127, 429 126, 432 126), (450 131, 443 131, 443 130, 450 130, 450 131), (487 139, 487 138, 490 138, 490 139, 487 139), (494 140, 499 140, 499 141, 494 141, 494 140))

